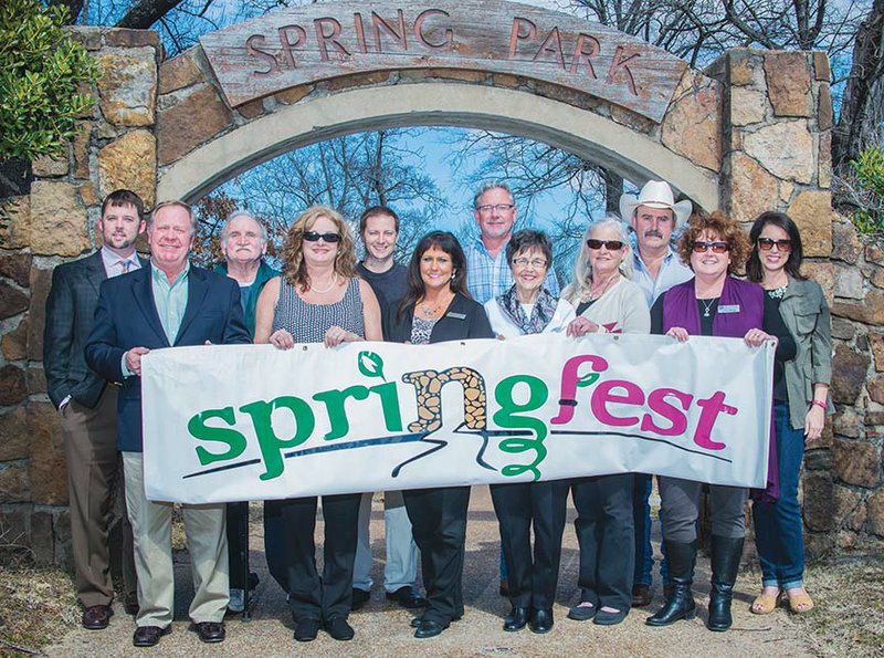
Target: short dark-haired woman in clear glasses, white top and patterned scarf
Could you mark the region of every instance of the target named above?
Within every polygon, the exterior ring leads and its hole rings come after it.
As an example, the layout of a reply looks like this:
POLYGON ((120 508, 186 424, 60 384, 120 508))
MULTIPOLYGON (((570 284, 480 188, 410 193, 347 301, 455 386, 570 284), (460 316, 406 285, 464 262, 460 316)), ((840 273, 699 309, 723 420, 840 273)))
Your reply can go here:
MULTIPOLYGON (((515 283, 501 296, 485 302, 497 337, 564 333, 575 318, 575 311, 570 303, 556 299, 546 288, 552 267, 549 237, 530 230, 513 233, 506 244, 506 262, 515 283)), ((507 595, 513 606, 504 630, 522 630, 527 625, 533 633, 548 633, 552 628, 568 483, 492 484, 491 497, 501 526, 507 595)))

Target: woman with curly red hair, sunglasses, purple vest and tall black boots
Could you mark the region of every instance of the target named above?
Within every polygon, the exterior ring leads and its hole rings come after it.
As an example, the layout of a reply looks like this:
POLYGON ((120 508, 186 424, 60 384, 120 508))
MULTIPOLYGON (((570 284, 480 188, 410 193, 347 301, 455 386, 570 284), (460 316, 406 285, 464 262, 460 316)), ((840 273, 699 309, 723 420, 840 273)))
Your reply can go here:
MULTIPOLYGON (((681 342, 692 335, 741 338, 754 347, 777 340, 775 359, 783 363, 794 357, 794 341, 776 304, 757 283, 734 276, 748 253, 749 242, 735 220, 722 212, 692 217, 678 239, 678 255, 691 267, 694 278, 657 299, 651 309, 651 332, 681 342)), ((703 482, 671 477, 661 477, 659 481, 663 543, 673 589, 665 605, 645 620, 649 626, 669 626, 696 615, 691 585, 703 482)), ((709 485, 712 588, 706 622, 709 630, 727 630, 733 623, 730 602, 743 556, 747 497, 748 490, 741 487, 709 485)))

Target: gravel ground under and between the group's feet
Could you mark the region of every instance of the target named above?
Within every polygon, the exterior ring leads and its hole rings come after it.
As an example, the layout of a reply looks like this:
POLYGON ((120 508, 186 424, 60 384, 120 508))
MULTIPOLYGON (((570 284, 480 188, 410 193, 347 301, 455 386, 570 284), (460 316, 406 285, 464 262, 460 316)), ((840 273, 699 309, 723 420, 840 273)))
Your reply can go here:
MULTIPOLYGON (((253 505, 253 509, 260 506, 253 505)), ((260 513, 257 514, 260 520, 260 513)), ((389 604, 383 597, 383 511, 376 495, 371 536, 375 549, 371 602, 350 616, 356 638, 348 643, 333 640, 325 633, 308 644, 295 643, 294 626, 285 604, 285 595, 270 577, 263 553, 262 529, 252 523, 252 571, 261 584, 255 591, 252 620, 228 616, 228 639, 221 645, 201 644, 188 631, 187 606, 192 597, 190 566, 186 552, 176 557, 176 620, 173 633, 161 639, 155 652, 160 656, 810 656, 819 648, 810 646, 806 630, 785 609, 771 615, 749 613, 749 604, 758 589, 758 574, 744 573, 736 587, 734 627, 728 633, 706 630, 705 606, 708 600, 708 560, 697 565, 695 591, 701 613, 691 622, 678 622, 667 628, 650 628, 644 618, 662 604, 659 579, 650 608, 634 609, 619 626, 601 627, 591 622, 566 618, 568 607, 578 598, 577 540, 572 525, 565 531, 562 564, 559 574, 556 626, 547 635, 504 633, 503 618, 509 604, 497 593, 498 534, 487 487, 473 489, 466 536, 464 602, 466 615, 442 635, 418 640, 409 627, 411 614, 389 604)), ((322 539, 318 524, 317 543, 322 539)), ((656 524, 655 524, 656 530, 656 524)), ((659 537, 657 537, 659 539, 659 537)), ((656 577, 656 575, 655 575, 656 577)), ((109 628, 88 631, 76 628, 59 643, 44 648, 48 656, 126 656, 141 654, 131 646, 135 625, 122 606, 109 628)))

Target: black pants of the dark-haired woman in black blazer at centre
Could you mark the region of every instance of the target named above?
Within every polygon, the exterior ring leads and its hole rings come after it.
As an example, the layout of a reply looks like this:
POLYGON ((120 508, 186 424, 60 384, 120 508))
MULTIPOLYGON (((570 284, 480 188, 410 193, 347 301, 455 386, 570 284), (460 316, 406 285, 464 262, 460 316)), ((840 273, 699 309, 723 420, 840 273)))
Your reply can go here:
POLYGON ((463 560, 469 487, 402 492, 427 588, 424 619, 449 624, 463 615, 463 560))

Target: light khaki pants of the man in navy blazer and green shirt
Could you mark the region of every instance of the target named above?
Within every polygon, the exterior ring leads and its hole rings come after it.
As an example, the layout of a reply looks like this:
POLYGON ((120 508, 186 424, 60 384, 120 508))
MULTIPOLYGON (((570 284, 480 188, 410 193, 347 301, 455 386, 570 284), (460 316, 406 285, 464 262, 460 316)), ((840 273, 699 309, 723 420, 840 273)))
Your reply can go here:
MULTIPOLYGON (((138 571, 140 610, 135 623, 165 627, 171 624, 175 612, 172 503, 151 502, 145 497, 140 452, 124 452, 123 464, 138 571)), ((183 505, 182 510, 196 589, 189 616, 196 623, 221 622, 230 594, 224 503, 183 505)))

